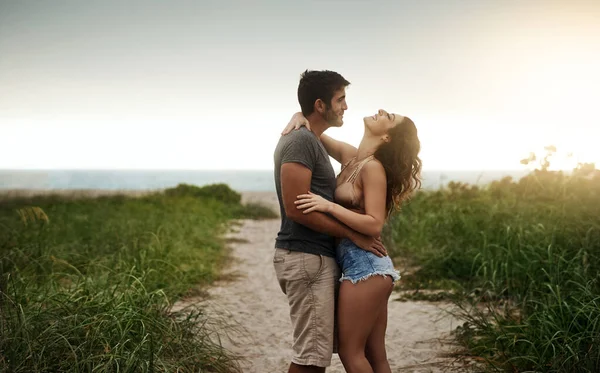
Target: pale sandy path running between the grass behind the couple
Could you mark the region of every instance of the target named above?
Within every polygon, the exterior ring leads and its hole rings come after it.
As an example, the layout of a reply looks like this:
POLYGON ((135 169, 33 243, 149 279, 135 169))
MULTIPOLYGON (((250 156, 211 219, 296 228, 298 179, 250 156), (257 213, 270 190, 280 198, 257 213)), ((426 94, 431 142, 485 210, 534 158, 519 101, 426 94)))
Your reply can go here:
MULTIPOLYGON (((261 200, 277 206, 273 195, 246 194, 244 200, 261 200)), ((232 262, 220 281, 208 289, 210 312, 227 315, 246 331, 236 343, 223 340, 224 346, 245 358, 244 372, 287 372, 291 356, 291 324, 286 296, 281 292, 273 269, 273 243, 279 220, 241 221, 229 235, 232 262)), ((428 302, 389 302, 387 348, 393 372, 442 372, 449 360, 440 353, 448 344, 439 342, 456 327, 457 321, 441 307, 428 302)), ((344 372, 334 355, 328 372, 344 372)))

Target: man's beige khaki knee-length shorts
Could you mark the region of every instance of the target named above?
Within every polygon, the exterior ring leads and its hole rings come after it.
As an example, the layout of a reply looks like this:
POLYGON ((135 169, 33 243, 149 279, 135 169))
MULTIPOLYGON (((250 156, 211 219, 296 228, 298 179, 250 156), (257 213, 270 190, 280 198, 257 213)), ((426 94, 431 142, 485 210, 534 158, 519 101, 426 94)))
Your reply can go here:
POLYGON ((337 352, 335 306, 340 278, 335 259, 275 249, 273 265, 290 304, 294 331, 292 362, 318 367, 331 365, 331 356, 337 352))

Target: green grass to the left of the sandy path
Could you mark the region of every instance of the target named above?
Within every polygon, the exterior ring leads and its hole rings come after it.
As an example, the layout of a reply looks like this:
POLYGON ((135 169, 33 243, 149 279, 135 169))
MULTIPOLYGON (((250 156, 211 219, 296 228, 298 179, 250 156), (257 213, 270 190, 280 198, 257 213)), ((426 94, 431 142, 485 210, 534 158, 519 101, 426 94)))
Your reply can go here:
POLYGON ((199 308, 236 218, 273 217, 225 185, 140 198, 0 202, 0 371, 236 371, 199 308))

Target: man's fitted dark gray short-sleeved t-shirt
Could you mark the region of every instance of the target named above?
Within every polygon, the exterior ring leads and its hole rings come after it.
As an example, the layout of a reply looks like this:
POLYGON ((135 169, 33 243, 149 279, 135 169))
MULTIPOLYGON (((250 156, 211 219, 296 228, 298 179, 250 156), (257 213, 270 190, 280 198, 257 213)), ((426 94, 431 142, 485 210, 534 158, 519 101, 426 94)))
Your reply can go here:
POLYGON ((327 150, 312 132, 301 127, 299 130, 281 136, 275 148, 274 161, 275 186, 281 211, 281 228, 275 239, 275 247, 335 258, 335 238, 288 219, 281 194, 281 165, 295 162, 312 171, 310 191, 333 201, 336 186, 335 171, 331 166, 327 150))

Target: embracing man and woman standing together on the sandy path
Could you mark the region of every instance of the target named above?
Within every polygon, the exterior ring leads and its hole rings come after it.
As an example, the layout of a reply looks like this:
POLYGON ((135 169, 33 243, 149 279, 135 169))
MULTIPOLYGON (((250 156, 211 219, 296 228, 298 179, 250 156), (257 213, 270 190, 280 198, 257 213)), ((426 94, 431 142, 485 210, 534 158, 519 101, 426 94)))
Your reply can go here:
POLYGON ((408 117, 385 110, 364 118, 358 148, 325 135, 343 124, 349 84, 333 71, 305 71, 302 112, 274 153, 281 228, 273 264, 290 305, 290 373, 324 372, 334 352, 349 373, 390 372, 387 303, 400 275, 380 235, 420 186, 420 142, 408 117), (329 156, 342 165, 337 177, 329 156))

